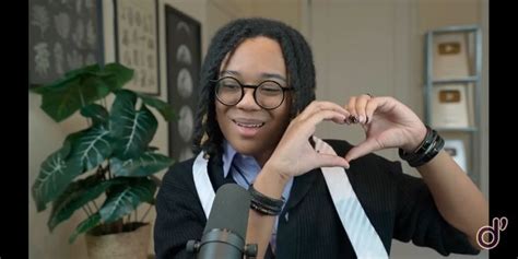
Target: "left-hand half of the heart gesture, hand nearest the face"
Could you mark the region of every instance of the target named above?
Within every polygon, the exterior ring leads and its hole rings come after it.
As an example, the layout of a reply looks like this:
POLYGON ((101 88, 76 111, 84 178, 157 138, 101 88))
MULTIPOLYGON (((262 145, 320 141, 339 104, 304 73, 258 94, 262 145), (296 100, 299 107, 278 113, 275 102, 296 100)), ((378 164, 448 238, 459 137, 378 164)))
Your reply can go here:
POLYGON ((318 167, 342 166, 349 168, 349 163, 341 156, 317 153, 309 143, 309 138, 313 138, 316 126, 321 121, 332 120, 343 125, 350 115, 338 104, 313 102, 291 121, 264 167, 279 173, 284 179, 318 167))

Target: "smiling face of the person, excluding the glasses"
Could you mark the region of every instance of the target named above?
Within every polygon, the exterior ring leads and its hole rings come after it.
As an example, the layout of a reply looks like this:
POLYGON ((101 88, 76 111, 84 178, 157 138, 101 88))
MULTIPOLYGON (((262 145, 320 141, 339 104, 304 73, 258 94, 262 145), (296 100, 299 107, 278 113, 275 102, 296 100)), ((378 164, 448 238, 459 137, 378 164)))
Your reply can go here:
MULTIPOLYGON (((225 58, 220 78, 233 76, 242 84, 259 85, 269 80, 287 87, 286 68, 281 46, 267 37, 244 40, 225 58)), ((261 108, 254 99, 254 89, 245 89, 245 96, 234 106, 215 99, 216 119, 221 131, 240 154, 252 155, 263 165, 279 143, 290 122, 291 91, 275 109, 261 108)))

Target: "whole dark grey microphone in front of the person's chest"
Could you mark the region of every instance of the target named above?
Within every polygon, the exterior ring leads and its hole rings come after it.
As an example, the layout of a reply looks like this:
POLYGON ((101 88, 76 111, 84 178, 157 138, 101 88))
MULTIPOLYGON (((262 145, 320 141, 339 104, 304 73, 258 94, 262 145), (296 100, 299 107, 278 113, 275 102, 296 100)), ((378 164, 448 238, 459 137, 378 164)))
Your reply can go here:
POLYGON ((236 184, 217 190, 201 240, 189 240, 186 249, 198 259, 256 257, 257 244, 245 245, 250 193, 236 184))

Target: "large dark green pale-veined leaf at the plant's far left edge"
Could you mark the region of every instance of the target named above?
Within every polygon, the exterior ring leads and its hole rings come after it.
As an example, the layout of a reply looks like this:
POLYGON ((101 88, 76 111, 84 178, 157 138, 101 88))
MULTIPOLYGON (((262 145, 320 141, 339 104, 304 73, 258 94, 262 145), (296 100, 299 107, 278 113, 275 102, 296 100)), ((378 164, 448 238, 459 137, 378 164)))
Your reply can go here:
POLYGON ((67 186, 82 172, 76 161, 66 161, 70 152, 70 142, 50 154, 40 166, 39 175, 33 184, 32 195, 37 211, 46 209, 46 204, 55 200, 67 186))

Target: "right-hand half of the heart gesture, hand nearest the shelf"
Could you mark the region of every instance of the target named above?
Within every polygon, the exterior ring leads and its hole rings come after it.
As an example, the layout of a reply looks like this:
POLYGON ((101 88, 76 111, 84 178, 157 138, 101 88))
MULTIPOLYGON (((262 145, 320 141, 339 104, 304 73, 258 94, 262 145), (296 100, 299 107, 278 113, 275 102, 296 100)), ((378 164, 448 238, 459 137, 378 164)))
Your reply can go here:
POLYGON ((374 151, 401 148, 413 152, 426 136, 426 127, 405 105, 392 97, 353 96, 345 108, 348 123, 361 123, 366 139, 345 154, 351 162, 374 151))

